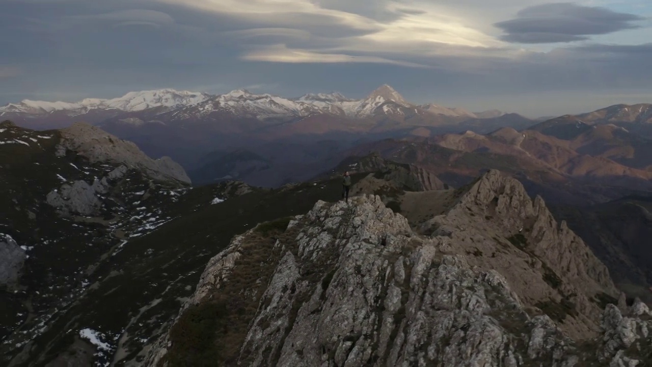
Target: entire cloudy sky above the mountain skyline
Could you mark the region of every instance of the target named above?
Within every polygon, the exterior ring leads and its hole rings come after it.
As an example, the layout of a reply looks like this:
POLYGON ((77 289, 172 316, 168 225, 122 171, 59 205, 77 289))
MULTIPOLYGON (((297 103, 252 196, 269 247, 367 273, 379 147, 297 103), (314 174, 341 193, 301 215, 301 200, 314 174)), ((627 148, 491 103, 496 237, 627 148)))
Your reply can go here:
POLYGON ((0 0, 0 104, 174 88, 530 117, 652 103, 652 1, 0 0))

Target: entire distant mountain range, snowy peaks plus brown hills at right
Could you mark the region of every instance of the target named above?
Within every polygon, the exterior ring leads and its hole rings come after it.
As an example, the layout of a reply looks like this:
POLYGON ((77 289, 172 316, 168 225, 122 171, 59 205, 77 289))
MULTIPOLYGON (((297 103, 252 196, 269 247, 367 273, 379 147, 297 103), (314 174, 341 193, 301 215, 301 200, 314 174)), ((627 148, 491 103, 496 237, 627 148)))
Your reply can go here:
POLYGON ((363 99, 336 92, 288 99, 244 89, 222 95, 162 89, 79 103, 23 101, 1 107, 0 114, 36 129, 87 121, 147 155, 170 156, 196 183, 237 179, 278 187, 308 180, 390 138, 507 155, 551 180, 600 177, 640 189, 652 167, 650 106, 617 104, 535 121, 497 110, 417 105, 384 85, 363 99))

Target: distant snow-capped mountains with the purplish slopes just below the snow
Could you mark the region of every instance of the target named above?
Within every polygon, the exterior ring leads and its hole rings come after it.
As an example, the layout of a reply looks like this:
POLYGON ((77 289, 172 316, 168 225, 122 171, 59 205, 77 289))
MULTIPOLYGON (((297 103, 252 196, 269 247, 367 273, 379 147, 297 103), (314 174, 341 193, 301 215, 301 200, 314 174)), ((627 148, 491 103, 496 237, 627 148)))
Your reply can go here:
MULTIPOLYGON (((67 127, 74 118, 103 126, 118 135, 123 129, 159 129, 163 125, 183 129, 205 125, 215 131, 244 133, 247 124, 243 121, 253 124, 247 125, 251 128, 269 123, 304 121, 306 118, 319 118, 320 124, 329 124, 333 118, 355 125, 359 120, 367 120, 387 127, 394 125, 390 121, 440 126, 477 118, 458 108, 409 103, 387 84, 363 99, 350 99, 338 92, 286 98, 269 93, 256 94, 246 89, 220 95, 160 89, 134 91, 114 99, 87 98, 74 103, 25 100, 0 107, 0 116, 3 120, 37 130, 67 127), (111 130, 110 125, 115 125, 118 130, 111 130)), ((123 133, 121 136, 132 135, 123 133)))

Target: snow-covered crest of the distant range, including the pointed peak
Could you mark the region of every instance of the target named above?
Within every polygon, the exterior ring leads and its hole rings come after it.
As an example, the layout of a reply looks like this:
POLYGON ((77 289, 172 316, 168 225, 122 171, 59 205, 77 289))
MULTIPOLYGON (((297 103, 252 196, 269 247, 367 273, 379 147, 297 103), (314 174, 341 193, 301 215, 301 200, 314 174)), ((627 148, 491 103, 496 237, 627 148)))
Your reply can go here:
MULTIPOLYGON (((243 117, 265 120, 269 118, 303 117, 311 114, 334 114, 348 118, 367 118, 379 112, 384 114, 406 114, 405 108, 417 108, 417 114, 432 113, 452 117, 478 118, 476 114, 460 108, 445 108, 434 104, 420 106, 409 103, 394 88, 385 84, 363 99, 349 99, 341 93, 308 93, 299 98, 286 98, 267 93, 254 94, 246 89, 235 89, 229 93, 211 95, 203 92, 159 89, 132 91, 114 99, 87 98, 75 103, 23 100, 0 107, 0 116, 31 115, 44 116, 64 113, 67 116, 81 116, 93 110, 117 110, 138 112, 150 108, 164 110, 181 109, 181 113, 201 116, 211 112, 227 112, 243 117), (196 107, 192 112, 188 107, 196 107)), ((481 112, 481 115, 496 117, 496 111, 481 112)))

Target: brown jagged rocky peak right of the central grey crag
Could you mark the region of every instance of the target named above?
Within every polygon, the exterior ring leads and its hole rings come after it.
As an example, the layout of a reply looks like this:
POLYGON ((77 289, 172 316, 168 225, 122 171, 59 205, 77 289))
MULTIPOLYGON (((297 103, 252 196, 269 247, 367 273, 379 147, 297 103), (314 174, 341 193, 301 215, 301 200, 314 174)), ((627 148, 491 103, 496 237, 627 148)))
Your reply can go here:
POLYGON ((518 180, 497 170, 424 227, 443 250, 503 274, 527 306, 554 313, 573 338, 594 337, 600 300, 619 296, 606 266, 582 239, 557 223, 541 197, 531 200, 518 180))

